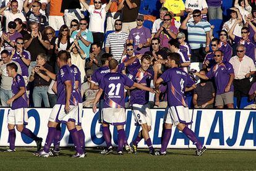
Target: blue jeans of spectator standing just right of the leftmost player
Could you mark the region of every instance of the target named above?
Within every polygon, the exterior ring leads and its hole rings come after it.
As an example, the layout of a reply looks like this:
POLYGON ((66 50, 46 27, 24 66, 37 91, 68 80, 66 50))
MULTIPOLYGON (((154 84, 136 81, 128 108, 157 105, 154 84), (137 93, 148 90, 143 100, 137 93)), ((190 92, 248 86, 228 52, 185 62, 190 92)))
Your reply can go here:
POLYGON ((41 102, 43 99, 43 104, 45 107, 49 106, 49 99, 48 99, 48 91, 49 86, 35 86, 33 90, 33 103, 34 107, 41 107, 41 102))

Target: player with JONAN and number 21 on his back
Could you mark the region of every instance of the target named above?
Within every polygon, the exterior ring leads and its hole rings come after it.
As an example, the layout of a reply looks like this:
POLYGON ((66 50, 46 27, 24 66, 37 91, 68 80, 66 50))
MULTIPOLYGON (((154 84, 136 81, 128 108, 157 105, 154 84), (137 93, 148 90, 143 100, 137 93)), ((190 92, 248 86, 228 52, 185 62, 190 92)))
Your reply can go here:
MULTIPOLYGON (((146 86, 134 83, 129 77, 121 73, 117 73, 118 62, 116 59, 109 60, 110 72, 100 81, 100 90, 96 94, 93 102, 93 112, 96 112, 96 103, 99 101, 101 94, 105 94, 103 105, 103 128, 111 125, 116 125, 118 132, 118 148, 117 154, 123 154, 124 141, 126 141, 126 133, 124 124, 126 124, 126 112, 124 109, 124 88, 125 86, 139 88, 145 91, 155 93, 155 91, 146 86)), ((110 133, 110 132, 109 132, 110 133)), ((103 132, 103 136, 105 137, 103 132)), ((107 138, 110 135, 106 136, 107 138)), ((105 138, 106 140, 106 138, 105 138)), ((108 146, 108 144, 107 144, 108 146)), ((107 147, 108 148, 108 147, 107 147)))

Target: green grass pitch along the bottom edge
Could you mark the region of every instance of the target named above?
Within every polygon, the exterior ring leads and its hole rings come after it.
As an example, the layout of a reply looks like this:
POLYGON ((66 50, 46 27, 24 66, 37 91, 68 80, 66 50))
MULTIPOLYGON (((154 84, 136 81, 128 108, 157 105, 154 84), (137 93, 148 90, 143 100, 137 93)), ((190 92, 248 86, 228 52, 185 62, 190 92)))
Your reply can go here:
MULTIPOLYGON (((4 149, 2 149, 4 150, 4 149)), ((1 151, 2 151, 1 150, 1 151)), ((0 151, 0 170, 255 170, 256 152, 207 149, 194 156, 194 149, 168 149, 166 156, 150 156, 146 149, 138 154, 118 156, 99 154, 100 149, 87 149, 87 157, 72 159, 74 150, 61 149, 59 157, 36 157, 35 148, 17 148, 16 152, 0 151)))

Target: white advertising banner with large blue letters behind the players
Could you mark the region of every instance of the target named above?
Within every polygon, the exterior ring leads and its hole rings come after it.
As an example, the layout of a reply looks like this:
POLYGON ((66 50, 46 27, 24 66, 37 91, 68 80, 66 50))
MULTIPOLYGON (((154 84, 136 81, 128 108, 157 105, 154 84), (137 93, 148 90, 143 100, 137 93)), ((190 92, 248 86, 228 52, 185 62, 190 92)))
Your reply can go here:
MULTIPOLYGON (((9 109, 0 109, 0 146, 9 146, 7 129, 7 114, 9 109)), ((46 139, 48 133, 48 118, 51 109, 29 109, 28 125, 36 135, 46 139)), ((134 140, 140 131, 135 126, 132 112, 127 109, 127 124, 125 126, 127 141, 134 140)), ((163 127, 164 109, 151 109, 152 125, 150 138, 155 148, 161 147, 161 133, 163 127)), ((207 148, 215 149, 256 149, 256 111, 236 110, 190 110, 193 123, 189 127, 200 137, 200 141, 207 148)), ((66 125, 62 124, 61 146, 72 146, 72 138, 66 125)), ((85 145, 87 147, 105 146, 98 123, 98 113, 93 114, 92 109, 83 109, 82 127, 85 132, 85 145)), ((112 126, 112 143, 117 145, 117 131, 112 126)), ((15 146, 36 146, 35 142, 16 131, 15 146)), ((43 141, 43 144, 45 141, 43 141)), ((147 148, 144 140, 140 141, 139 148, 147 148)), ((168 148, 195 148, 191 141, 173 127, 168 148)))

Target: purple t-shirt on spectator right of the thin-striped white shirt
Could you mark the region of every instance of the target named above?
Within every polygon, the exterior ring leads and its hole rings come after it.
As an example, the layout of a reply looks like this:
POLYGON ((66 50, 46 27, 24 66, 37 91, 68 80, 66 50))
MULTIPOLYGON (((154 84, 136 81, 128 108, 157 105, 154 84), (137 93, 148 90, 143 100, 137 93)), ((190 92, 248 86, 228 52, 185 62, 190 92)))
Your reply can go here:
POLYGON ((140 29, 136 28, 132 28, 132 30, 130 30, 130 34, 129 34, 129 40, 133 40, 134 43, 134 49, 135 49, 135 54, 144 54, 147 51, 150 51, 150 47, 147 48, 138 48, 138 45, 140 43, 147 43, 147 40, 151 38, 151 32, 150 29, 147 27, 142 27, 140 29))

